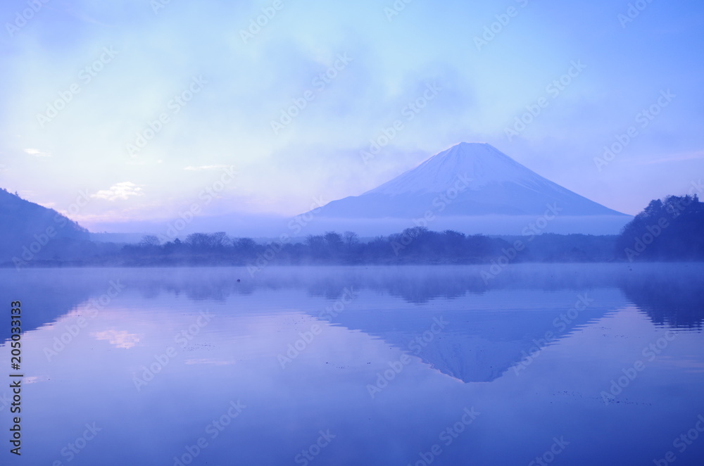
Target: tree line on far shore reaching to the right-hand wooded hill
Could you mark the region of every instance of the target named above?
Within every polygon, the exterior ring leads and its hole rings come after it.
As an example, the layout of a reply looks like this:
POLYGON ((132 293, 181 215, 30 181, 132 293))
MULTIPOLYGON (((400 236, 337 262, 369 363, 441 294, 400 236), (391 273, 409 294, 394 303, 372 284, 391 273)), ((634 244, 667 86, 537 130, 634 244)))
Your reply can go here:
MULTIPOLYGON (((296 241, 258 242, 225 232, 189 234, 183 241, 161 243, 149 235, 125 245, 126 265, 213 264, 246 265, 259 269, 278 265, 403 265, 482 264, 507 256, 517 237, 467 235, 447 229, 434 232, 413 227, 401 233, 360 239, 355 232, 311 234, 296 241)), ((544 234, 511 262, 601 262, 613 259, 615 237, 584 234, 544 234)))

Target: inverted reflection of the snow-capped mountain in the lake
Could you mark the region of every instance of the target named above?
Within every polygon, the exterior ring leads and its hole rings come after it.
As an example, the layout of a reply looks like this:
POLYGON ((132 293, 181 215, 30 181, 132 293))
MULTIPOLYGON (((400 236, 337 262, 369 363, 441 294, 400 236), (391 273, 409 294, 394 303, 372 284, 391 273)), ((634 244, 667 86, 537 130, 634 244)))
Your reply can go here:
POLYGON ((461 309, 443 309, 442 302, 437 308, 422 310, 355 309, 332 322, 383 339, 455 379, 491 382, 529 353, 624 304, 616 289, 588 291, 587 297, 595 301, 569 325, 556 326, 554 321, 578 301, 576 291, 526 289, 489 291, 472 297, 461 309), (434 319, 447 322, 437 334, 432 332, 439 329, 434 319))

